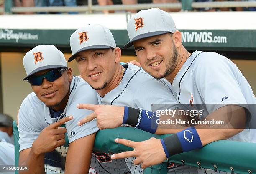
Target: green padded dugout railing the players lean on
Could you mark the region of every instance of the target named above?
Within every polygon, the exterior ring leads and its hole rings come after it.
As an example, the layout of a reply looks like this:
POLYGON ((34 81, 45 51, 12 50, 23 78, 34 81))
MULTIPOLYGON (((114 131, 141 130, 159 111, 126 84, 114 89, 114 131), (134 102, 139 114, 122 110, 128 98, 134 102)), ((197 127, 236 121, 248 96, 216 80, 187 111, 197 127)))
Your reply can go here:
MULTIPOLYGON (((13 133, 15 137, 15 166, 18 166, 19 133, 16 121, 13 122, 13 133)), ((119 153, 133 150, 131 147, 115 143, 115 138, 143 141, 151 137, 161 139, 166 136, 168 135, 151 134, 132 127, 100 130, 95 137, 94 151, 119 153)), ((68 146, 67 139, 66 142, 66 146, 68 146)), ((169 161, 166 160, 162 164, 148 167, 144 170, 144 174, 167 174, 168 162, 204 169, 203 173, 223 171, 231 174, 252 174, 256 173, 256 144, 228 140, 212 142, 201 149, 174 155, 170 157, 169 161), (210 172, 208 172, 209 170, 210 172)), ((15 171, 15 174, 18 174, 18 171, 15 171)))

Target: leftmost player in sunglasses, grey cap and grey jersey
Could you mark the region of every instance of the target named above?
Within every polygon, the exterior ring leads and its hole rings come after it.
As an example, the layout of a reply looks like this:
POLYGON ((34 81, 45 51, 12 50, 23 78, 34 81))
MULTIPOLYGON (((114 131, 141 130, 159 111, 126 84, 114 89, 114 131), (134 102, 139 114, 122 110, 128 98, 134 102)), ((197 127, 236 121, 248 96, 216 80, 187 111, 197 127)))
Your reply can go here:
POLYGON ((91 111, 77 109, 76 104, 98 104, 95 90, 72 75, 63 53, 53 45, 33 48, 24 56, 23 65, 27 74, 23 80, 31 84, 33 92, 23 100, 18 114, 19 165, 28 167, 19 173, 45 173, 44 154, 64 144, 66 132, 69 149, 65 173, 88 173, 98 127, 96 121, 77 126, 77 121, 91 111), (62 124, 66 128, 60 127, 62 124), (83 165, 77 167, 79 163, 83 165))

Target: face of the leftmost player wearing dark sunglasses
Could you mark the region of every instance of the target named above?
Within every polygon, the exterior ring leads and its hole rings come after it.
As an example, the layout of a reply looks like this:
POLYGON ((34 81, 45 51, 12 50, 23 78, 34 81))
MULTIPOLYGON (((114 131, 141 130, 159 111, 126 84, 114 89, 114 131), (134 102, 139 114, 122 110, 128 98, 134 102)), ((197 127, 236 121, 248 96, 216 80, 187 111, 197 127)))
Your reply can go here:
MULTIPOLYGON (((43 70, 35 75, 42 75, 50 70, 43 70)), ((62 72, 62 76, 53 82, 49 82, 45 78, 39 86, 31 85, 38 99, 40 99, 47 107, 54 110, 65 109, 69 98, 69 84, 72 81, 72 70, 68 68, 62 72)))

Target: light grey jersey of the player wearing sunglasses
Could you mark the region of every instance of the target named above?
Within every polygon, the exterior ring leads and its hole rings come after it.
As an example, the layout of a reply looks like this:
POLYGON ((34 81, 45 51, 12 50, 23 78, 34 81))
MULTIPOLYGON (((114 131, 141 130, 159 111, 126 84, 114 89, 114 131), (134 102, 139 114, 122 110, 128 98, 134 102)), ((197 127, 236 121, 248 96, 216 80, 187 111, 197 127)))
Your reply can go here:
POLYGON ((99 130, 96 125, 96 119, 82 126, 77 126, 77 122, 83 119, 84 116, 91 114, 92 111, 78 109, 76 105, 81 103, 98 104, 95 90, 82 78, 73 77, 69 93, 69 99, 64 112, 56 118, 51 118, 49 107, 41 102, 34 92, 28 94, 20 106, 18 115, 20 151, 31 148, 34 140, 45 127, 66 116, 73 116, 72 120, 66 122, 69 143, 99 130))

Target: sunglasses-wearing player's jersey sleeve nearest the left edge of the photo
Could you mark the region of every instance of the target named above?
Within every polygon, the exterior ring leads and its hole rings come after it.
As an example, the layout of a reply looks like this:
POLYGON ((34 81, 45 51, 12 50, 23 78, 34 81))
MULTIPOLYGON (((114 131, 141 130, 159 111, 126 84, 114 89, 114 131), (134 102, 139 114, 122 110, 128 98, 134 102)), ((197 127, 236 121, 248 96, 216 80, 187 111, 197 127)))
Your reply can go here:
POLYGON ((33 142, 41 132, 39 128, 36 128, 33 126, 36 124, 31 121, 31 117, 33 117, 33 115, 31 115, 33 108, 28 107, 28 105, 26 104, 27 102, 26 100, 27 98, 24 99, 23 103, 21 104, 19 114, 18 114, 20 151, 31 148, 33 142))

